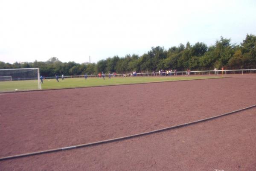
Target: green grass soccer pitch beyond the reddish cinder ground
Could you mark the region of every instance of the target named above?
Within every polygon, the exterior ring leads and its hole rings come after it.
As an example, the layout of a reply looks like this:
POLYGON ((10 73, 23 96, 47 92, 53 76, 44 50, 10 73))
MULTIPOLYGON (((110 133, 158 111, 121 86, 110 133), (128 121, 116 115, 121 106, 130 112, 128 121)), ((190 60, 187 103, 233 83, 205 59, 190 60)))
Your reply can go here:
MULTIPOLYGON (((209 78, 221 78, 217 76, 155 76, 155 77, 115 77, 108 79, 103 78, 65 78, 65 80, 59 79, 57 82, 55 79, 45 79, 44 84, 41 84, 42 89, 61 89, 61 88, 76 88, 76 87, 96 87, 107 85, 121 85, 121 84, 138 84, 138 83, 150 83, 150 82, 163 82, 163 81, 181 81, 181 80, 196 80, 196 79, 209 79, 209 78)), ((29 81, 4 81, 0 82, 0 92, 6 91, 18 91, 22 90, 37 90, 37 80, 29 81)))

